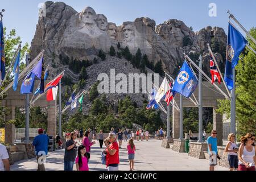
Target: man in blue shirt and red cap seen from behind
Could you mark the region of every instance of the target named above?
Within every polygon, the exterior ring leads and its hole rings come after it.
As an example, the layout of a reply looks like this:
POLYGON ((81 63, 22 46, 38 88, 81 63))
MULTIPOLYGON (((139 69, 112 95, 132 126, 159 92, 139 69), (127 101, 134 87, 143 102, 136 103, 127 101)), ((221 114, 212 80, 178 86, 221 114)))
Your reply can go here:
POLYGON ((44 160, 48 154, 48 135, 44 134, 43 129, 38 130, 38 136, 35 137, 33 141, 33 146, 35 146, 36 151, 36 161, 38 162, 38 171, 46 171, 44 168, 44 160))

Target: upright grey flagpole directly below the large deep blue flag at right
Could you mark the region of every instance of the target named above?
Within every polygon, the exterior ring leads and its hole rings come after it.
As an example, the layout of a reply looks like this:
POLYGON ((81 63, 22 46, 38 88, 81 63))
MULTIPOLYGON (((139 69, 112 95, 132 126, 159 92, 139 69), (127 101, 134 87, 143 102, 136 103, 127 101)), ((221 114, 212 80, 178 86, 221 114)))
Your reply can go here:
POLYGON ((236 70, 233 69, 233 89, 231 90, 231 133, 236 135, 236 70))

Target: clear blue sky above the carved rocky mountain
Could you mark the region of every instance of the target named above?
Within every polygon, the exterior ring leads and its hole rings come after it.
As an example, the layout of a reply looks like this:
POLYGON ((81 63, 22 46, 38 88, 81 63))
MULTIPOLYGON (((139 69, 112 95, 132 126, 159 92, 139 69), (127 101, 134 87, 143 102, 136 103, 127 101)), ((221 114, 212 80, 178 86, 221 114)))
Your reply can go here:
MULTIPOLYGON (((7 31, 16 29, 23 43, 31 43, 38 23, 39 3, 43 0, 0 0, 3 13, 3 26, 7 31)), ((193 31, 207 26, 218 26, 227 31, 228 14, 232 14, 249 30, 256 26, 255 0, 63 0, 67 5, 80 12, 84 7, 92 7, 97 14, 104 14, 108 22, 121 25, 122 22, 133 21, 139 17, 154 19, 156 24, 168 19, 182 20, 193 31), (210 17, 209 3, 216 3, 217 16, 210 17)))

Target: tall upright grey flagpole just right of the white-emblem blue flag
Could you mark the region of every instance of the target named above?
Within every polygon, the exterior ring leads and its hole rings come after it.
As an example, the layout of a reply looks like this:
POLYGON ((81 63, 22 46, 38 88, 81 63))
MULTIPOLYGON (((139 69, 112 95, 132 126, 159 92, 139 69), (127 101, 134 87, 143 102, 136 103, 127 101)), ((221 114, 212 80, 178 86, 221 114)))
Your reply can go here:
MULTIPOLYGON (((199 68, 202 69, 203 57, 199 57, 199 68)), ((203 94, 202 94, 202 73, 199 72, 199 140, 203 142, 203 94)))

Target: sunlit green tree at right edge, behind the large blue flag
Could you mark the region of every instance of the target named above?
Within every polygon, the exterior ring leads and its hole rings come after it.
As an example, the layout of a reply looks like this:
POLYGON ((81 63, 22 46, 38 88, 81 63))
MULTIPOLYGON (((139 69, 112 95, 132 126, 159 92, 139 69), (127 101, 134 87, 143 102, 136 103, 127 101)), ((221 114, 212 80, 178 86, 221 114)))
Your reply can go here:
MULTIPOLYGON (((251 28, 250 35, 256 39, 256 28, 251 28)), ((247 38, 250 46, 256 50, 256 45, 247 38)), ((256 55, 246 49, 245 55, 236 67, 236 117, 238 121, 238 133, 245 135, 246 133, 256 133, 256 55)))

